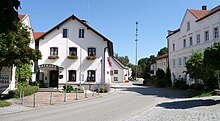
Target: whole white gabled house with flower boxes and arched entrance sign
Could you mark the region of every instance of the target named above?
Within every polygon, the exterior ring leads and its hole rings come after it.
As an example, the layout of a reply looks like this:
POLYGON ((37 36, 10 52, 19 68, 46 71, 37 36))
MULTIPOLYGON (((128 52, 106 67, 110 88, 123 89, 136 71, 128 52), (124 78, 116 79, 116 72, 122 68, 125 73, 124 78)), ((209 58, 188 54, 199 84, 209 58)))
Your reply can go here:
POLYGON ((45 87, 109 84, 113 43, 72 15, 36 39, 42 53, 39 79, 45 87))

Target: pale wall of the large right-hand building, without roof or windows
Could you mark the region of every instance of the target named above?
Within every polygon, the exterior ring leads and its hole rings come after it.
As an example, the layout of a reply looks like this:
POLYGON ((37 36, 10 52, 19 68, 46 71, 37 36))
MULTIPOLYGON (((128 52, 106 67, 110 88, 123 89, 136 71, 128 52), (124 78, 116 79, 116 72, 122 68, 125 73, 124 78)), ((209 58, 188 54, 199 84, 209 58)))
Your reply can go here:
MULTIPOLYGON (((189 80, 184 71, 185 62, 190 58, 193 52, 203 51, 214 42, 220 41, 220 38, 213 39, 214 27, 220 27, 220 12, 217 12, 199 22, 197 18, 188 10, 184 16, 180 31, 168 37, 169 43, 169 65, 171 69, 172 80, 174 78, 185 78, 189 80), (187 30, 187 22, 190 22, 190 30, 187 30), (205 31, 209 31, 209 41, 205 41, 205 31), (197 42, 197 35, 200 34, 200 42, 197 42), (193 44, 190 45, 189 38, 192 37, 193 44), (183 40, 186 40, 184 47, 183 40), (173 50, 173 44, 175 44, 173 50)), ((187 81, 189 84, 190 82, 187 81)))

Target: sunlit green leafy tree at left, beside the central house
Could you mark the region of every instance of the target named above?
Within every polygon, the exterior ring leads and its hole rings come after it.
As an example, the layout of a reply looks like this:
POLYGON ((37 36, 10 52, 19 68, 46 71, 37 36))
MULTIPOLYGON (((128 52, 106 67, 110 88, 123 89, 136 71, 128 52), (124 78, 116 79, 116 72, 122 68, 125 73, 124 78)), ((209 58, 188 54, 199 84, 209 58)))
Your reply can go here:
POLYGON ((29 46, 31 39, 28 28, 21 23, 17 24, 17 28, 16 31, 0 34, 0 70, 30 64, 31 60, 41 58, 40 51, 29 46))

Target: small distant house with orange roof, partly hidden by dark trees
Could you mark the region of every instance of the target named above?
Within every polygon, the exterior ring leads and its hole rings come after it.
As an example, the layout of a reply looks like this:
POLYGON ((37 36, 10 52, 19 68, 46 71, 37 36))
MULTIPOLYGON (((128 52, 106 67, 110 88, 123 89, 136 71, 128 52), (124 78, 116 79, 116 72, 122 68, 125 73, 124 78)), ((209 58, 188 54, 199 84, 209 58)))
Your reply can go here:
POLYGON ((156 57, 155 63, 151 64, 152 75, 156 75, 158 69, 162 69, 165 73, 168 67, 168 54, 156 57))

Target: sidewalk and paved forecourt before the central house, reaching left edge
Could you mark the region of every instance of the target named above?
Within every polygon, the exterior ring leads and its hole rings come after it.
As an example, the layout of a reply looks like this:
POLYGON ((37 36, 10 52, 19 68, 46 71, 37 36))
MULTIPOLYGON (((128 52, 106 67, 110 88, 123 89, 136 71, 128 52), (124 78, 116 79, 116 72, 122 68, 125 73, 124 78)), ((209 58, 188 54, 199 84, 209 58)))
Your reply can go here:
POLYGON ((95 98, 100 98, 105 95, 113 93, 114 90, 111 89, 109 93, 93 93, 87 91, 85 93, 66 93, 66 101, 64 102, 65 93, 63 92, 37 92, 35 93, 35 105, 34 105, 34 95, 24 97, 23 104, 21 99, 9 99, 8 101, 12 103, 9 107, 0 108, 0 115, 18 113, 23 111, 29 111, 39 108, 45 108, 53 105, 63 105, 67 103, 77 103, 81 101, 91 100, 95 98), (52 95, 51 95, 52 94, 52 95), (76 100, 77 97, 77 100, 76 100))

